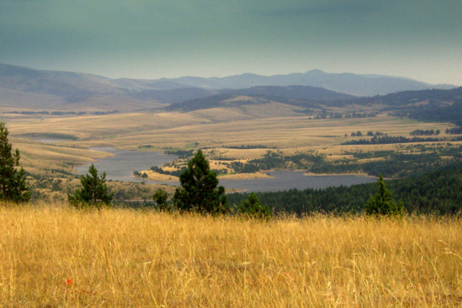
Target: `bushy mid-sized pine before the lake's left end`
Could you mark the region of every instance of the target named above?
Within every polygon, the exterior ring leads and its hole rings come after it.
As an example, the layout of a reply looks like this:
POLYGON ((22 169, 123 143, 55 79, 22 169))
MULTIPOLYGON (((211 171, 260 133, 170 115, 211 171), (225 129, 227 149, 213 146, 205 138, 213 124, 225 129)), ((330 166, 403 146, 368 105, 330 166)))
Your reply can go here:
POLYGON ((98 177, 98 170, 93 164, 88 169, 90 175, 80 177, 81 189, 76 189, 74 195, 67 195, 69 204, 78 208, 110 206, 113 193, 108 194, 106 172, 98 177))

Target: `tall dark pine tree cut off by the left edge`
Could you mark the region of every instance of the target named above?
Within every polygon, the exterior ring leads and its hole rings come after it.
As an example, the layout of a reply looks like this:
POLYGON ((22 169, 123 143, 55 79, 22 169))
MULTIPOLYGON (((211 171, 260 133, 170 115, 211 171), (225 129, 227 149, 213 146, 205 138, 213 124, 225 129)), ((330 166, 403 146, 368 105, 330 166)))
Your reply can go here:
POLYGON ((17 170, 20 153, 18 149, 12 153, 8 134, 5 123, 0 122, 0 200, 27 202, 30 192, 26 185, 26 171, 23 167, 17 170))

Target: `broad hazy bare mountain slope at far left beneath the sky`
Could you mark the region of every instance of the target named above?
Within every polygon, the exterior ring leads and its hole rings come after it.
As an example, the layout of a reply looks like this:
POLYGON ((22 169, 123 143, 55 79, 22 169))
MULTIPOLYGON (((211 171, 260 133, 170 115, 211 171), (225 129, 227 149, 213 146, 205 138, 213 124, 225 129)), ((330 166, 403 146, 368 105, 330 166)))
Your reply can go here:
POLYGON ((109 79, 84 73, 37 70, 0 64, 2 111, 112 111, 162 105, 128 97, 109 79))

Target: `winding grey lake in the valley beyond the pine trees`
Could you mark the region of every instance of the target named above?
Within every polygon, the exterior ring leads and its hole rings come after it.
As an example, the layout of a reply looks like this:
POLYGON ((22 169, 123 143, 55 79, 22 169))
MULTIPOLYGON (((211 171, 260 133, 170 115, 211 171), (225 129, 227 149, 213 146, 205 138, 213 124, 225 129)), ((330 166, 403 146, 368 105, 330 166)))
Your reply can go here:
MULTIPOLYGON (((179 185, 179 182, 149 181, 133 177, 134 170, 148 170, 151 166, 160 166, 176 159, 174 155, 161 152, 119 150, 111 147, 92 148, 113 153, 111 157, 93 162, 98 172, 106 171, 107 180, 127 182, 165 183, 179 185)), ((79 175, 87 174, 90 164, 76 167, 79 175)), ((304 171, 275 170, 267 172, 273 178, 220 180, 220 185, 226 188, 236 188, 246 191, 278 191, 293 188, 326 188, 329 186, 350 186, 354 184, 375 182, 377 179, 357 175, 304 176, 304 171)))

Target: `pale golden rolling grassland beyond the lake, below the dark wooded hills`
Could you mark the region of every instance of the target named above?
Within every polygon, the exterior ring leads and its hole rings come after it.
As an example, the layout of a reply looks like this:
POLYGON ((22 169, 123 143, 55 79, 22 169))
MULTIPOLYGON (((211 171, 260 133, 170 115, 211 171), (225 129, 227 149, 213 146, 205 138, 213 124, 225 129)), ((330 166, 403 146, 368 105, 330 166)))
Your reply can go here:
POLYGON ((330 146, 358 130, 381 131, 391 136, 409 136, 415 129, 440 129, 447 123, 423 123, 380 115, 376 118, 309 120, 293 110, 251 106, 253 109, 214 108, 187 113, 138 112, 38 119, 11 118, 7 127, 14 134, 54 132, 73 134, 78 146, 117 146, 138 149, 140 145, 159 148, 264 145, 274 148, 330 146), (254 110, 255 109, 255 110, 254 110))

